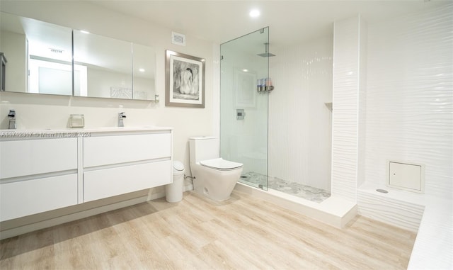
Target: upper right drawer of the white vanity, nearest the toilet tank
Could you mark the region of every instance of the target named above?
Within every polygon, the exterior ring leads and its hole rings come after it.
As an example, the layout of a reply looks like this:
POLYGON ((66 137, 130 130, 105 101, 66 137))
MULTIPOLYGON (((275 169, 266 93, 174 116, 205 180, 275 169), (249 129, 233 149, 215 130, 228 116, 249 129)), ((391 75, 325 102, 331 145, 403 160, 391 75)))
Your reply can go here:
POLYGON ((171 157, 171 133, 84 137, 84 167, 171 157))

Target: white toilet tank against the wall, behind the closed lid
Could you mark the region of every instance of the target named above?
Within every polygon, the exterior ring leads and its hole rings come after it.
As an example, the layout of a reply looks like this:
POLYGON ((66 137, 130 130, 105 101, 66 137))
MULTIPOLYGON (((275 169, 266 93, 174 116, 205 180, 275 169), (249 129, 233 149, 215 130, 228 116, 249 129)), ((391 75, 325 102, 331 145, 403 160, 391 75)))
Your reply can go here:
POLYGON ((218 137, 190 137, 190 163, 219 157, 218 137))

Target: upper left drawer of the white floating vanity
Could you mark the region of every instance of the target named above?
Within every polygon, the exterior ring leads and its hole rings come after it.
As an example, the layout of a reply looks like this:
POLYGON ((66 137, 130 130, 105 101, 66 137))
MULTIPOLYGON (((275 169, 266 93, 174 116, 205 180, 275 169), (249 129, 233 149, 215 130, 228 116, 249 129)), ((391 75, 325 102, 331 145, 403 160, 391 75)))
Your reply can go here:
POLYGON ((0 179, 77 169, 77 138, 0 142, 0 179))

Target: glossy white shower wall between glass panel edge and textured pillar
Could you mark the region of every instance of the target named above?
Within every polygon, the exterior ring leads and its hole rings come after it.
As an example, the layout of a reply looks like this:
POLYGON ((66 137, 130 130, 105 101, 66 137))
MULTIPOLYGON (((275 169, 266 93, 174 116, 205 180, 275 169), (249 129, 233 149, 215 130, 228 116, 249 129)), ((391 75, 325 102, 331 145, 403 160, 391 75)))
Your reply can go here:
POLYGON ((272 52, 269 175, 330 191, 332 33, 272 52))

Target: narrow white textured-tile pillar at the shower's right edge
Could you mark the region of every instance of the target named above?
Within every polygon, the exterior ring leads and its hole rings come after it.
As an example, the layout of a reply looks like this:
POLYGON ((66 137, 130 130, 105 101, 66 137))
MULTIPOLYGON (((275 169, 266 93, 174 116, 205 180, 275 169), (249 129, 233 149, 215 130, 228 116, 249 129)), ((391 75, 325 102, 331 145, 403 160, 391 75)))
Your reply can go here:
POLYGON ((365 21, 336 21, 333 38, 332 195, 357 200, 365 147, 365 21))

